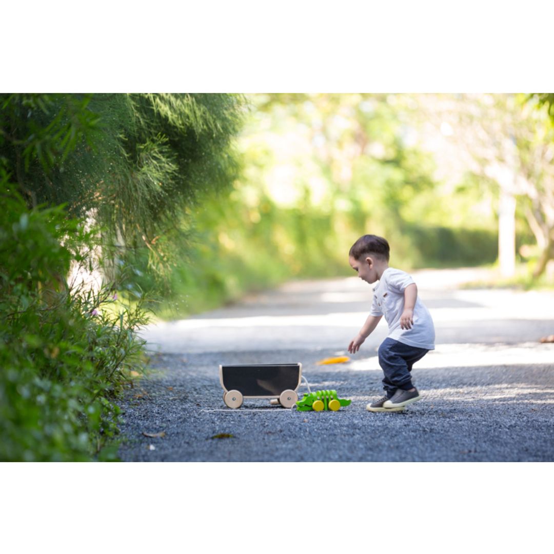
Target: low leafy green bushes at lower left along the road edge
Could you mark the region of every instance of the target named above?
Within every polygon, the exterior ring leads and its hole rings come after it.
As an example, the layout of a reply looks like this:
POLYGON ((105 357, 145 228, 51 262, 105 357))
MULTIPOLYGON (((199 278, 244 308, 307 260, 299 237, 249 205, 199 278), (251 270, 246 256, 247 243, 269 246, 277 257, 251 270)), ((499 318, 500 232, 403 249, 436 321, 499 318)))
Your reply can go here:
POLYGON ((114 395, 140 367, 140 302, 115 309, 113 285, 68 286, 93 235, 61 207, 27 209, 0 189, 0 460, 115 459, 114 395))

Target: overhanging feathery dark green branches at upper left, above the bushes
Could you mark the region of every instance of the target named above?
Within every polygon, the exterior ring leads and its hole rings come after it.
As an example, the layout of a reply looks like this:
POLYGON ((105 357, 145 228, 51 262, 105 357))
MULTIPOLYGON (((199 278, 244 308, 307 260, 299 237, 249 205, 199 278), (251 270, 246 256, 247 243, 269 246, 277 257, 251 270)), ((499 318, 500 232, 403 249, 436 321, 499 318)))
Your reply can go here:
POLYGON ((186 247, 184 209, 238 173, 239 95, 4 94, 0 102, 0 162, 27 204, 66 203, 104 228, 112 258, 145 250, 159 273, 186 247))

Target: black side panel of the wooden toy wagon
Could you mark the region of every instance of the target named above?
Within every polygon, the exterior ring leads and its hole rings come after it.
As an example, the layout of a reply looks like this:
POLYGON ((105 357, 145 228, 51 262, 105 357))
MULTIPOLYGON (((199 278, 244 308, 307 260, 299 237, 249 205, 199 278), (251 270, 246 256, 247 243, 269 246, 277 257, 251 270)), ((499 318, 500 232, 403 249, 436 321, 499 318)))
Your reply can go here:
POLYGON ((237 390, 243 396, 278 397, 300 384, 300 364, 230 365, 221 366, 223 387, 237 390))

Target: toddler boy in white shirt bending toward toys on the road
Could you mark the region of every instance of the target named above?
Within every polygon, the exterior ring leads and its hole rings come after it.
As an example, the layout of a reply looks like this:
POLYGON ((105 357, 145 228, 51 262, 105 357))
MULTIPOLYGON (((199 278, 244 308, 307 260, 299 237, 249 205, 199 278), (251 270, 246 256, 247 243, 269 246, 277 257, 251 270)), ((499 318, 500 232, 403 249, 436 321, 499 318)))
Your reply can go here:
POLYGON ((384 315, 388 336, 379 346, 379 365, 384 378, 385 395, 367 405, 370 412, 399 412, 421 396, 412 384, 412 366, 429 350, 434 350, 433 320, 417 295, 411 276, 389 268, 388 242, 376 235, 360 237, 350 249, 349 261, 366 283, 379 283, 373 288, 370 315, 358 335, 348 345, 355 354, 377 327, 384 315))

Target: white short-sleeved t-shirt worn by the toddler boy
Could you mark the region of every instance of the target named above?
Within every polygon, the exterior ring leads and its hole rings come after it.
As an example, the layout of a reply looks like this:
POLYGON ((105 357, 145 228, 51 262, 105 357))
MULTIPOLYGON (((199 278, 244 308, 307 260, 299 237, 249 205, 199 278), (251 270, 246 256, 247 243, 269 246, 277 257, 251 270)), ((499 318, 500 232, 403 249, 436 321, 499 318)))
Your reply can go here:
POLYGON ((414 306, 414 324, 412 329, 402 329, 400 317, 404 311, 404 289, 414 283, 405 271, 387 268, 373 289, 373 304, 371 315, 384 315, 388 323, 388 338, 403 342, 409 346, 435 349, 435 327, 429 310, 419 300, 414 306))

